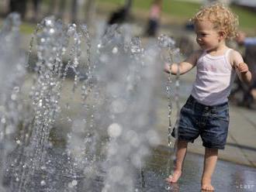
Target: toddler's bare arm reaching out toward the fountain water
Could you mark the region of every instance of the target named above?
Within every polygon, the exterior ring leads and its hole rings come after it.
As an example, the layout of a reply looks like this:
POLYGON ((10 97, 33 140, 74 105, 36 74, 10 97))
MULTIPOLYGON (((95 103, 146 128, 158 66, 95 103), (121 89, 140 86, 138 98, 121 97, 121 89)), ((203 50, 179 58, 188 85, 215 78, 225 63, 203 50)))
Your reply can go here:
POLYGON ((202 52, 195 51, 195 53, 192 53, 186 60, 184 60, 181 63, 172 63, 171 65, 169 63, 165 63, 164 71, 168 74, 185 74, 189 72, 189 70, 192 70, 193 67, 195 67, 196 61, 199 58, 199 55, 202 52))

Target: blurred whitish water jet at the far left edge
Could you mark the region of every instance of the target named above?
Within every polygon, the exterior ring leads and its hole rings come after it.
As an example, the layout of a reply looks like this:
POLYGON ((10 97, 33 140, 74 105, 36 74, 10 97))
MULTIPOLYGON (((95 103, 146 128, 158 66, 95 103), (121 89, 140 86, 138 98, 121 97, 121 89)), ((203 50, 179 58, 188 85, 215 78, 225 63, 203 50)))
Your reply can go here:
MULTIPOLYGON (((4 179, 9 153, 25 139, 19 133, 28 123, 29 110, 24 110, 22 98, 19 97, 26 74, 26 57, 19 44, 19 25, 19 15, 12 13, 5 19, 0 31, 0 180, 4 179)), ((0 190, 4 191, 2 187, 0 190)))

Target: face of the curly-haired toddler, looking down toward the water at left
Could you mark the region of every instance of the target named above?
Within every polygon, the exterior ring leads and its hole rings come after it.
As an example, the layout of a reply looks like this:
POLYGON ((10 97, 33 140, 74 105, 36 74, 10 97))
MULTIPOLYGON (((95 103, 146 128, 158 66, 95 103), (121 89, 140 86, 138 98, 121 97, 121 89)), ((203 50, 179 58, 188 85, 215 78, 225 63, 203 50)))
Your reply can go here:
POLYGON ((196 42, 202 50, 214 50, 220 46, 221 36, 213 23, 209 21, 195 22, 196 42))

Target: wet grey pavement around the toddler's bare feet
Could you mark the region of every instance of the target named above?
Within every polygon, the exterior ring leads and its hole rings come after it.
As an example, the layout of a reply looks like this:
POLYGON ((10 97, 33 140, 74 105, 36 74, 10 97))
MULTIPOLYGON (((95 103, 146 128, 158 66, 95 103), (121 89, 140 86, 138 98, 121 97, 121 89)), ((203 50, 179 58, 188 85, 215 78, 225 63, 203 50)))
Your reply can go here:
MULTIPOLYGON (((178 183, 168 185, 164 182, 164 179, 167 175, 166 159, 168 159, 170 154, 166 147, 161 147, 154 151, 154 158, 151 159, 151 162, 147 163, 148 166, 145 171, 147 191, 166 191, 166 188, 169 188, 169 191, 175 192, 200 191, 203 156, 188 153, 185 158, 182 177, 178 183)), ((255 180, 256 170, 254 168, 219 160, 213 175, 212 184, 216 191, 256 191, 255 180)))

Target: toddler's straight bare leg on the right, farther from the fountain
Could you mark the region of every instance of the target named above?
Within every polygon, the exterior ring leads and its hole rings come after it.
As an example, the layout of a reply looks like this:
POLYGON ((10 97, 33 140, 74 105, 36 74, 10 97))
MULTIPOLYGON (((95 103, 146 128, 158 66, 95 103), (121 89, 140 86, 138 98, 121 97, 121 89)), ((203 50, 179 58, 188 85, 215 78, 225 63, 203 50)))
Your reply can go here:
POLYGON ((218 159, 218 149, 206 148, 204 167, 202 173, 201 187, 202 190, 214 190, 211 184, 211 178, 218 159))

